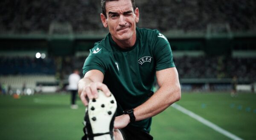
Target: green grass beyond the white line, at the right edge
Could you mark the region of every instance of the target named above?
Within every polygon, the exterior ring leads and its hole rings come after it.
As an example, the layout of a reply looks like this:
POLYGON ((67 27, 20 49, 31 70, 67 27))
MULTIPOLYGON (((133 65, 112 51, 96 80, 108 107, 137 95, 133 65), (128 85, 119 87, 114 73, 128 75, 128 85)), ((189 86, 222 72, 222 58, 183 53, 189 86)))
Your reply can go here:
POLYGON ((245 139, 256 139, 256 94, 185 94, 179 105, 245 139))

